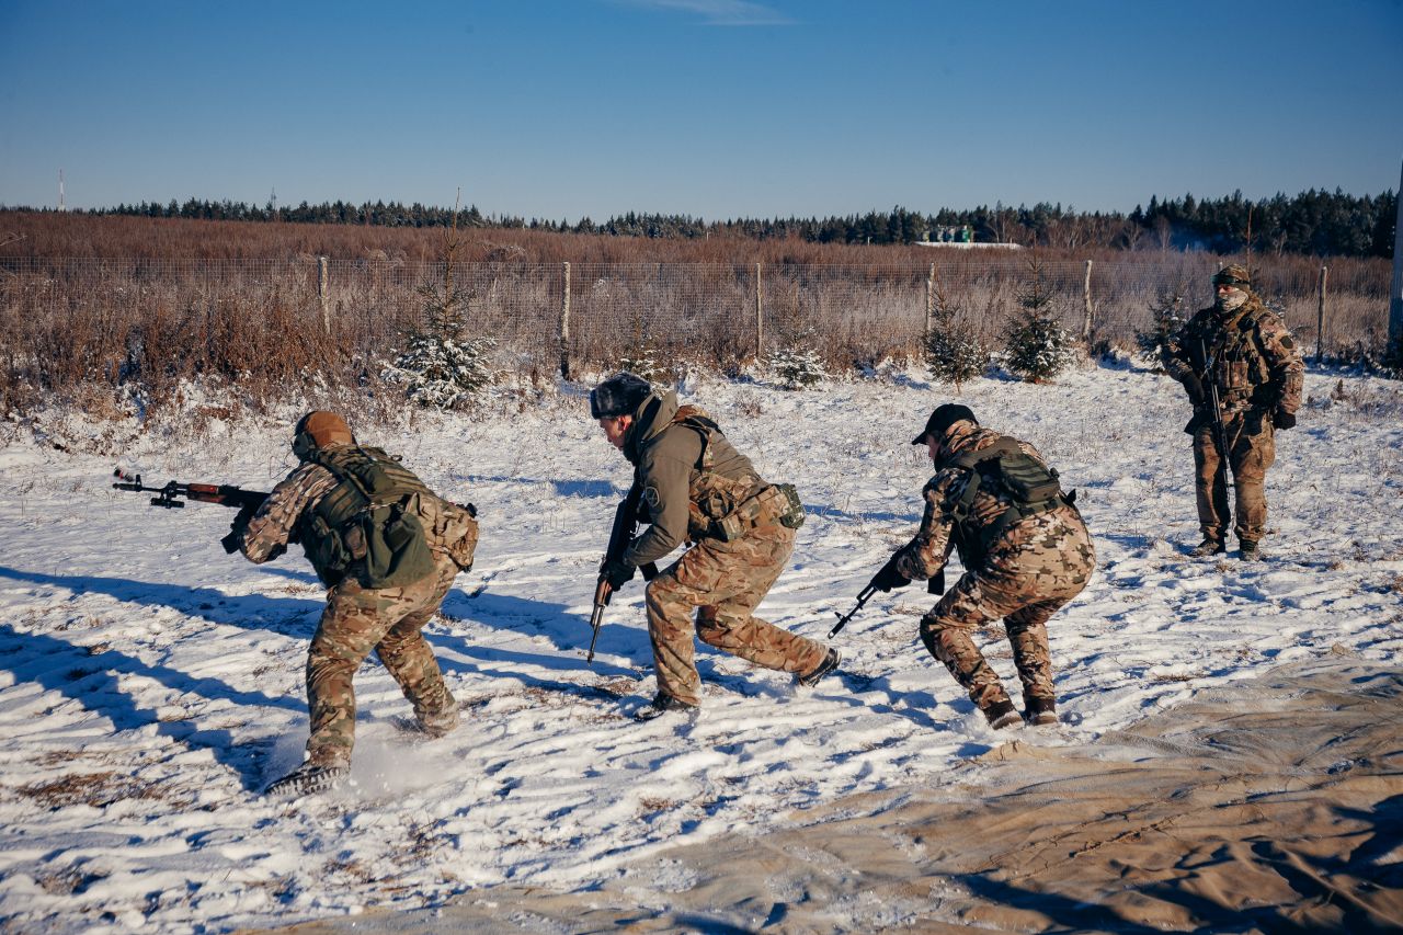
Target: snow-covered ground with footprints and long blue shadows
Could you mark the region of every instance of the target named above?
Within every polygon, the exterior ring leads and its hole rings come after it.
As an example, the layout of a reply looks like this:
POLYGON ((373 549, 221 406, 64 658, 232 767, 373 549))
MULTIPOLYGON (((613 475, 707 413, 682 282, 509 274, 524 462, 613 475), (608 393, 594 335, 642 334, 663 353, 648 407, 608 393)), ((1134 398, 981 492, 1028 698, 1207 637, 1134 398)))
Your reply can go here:
MULTIPOLYGON (((822 639, 913 532, 930 465, 909 439, 953 392, 913 372, 803 393, 709 378, 682 389, 766 477, 798 486, 808 522, 760 612, 822 639)), ((1399 657, 1403 385, 1312 373, 1306 392, 1268 473, 1268 559, 1243 566, 1186 556, 1198 539, 1188 410, 1167 378, 1087 368, 964 387, 986 425, 1034 442, 1080 490, 1096 535, 1097 576, 1049 626, 1076 726, 1024 740, 1124 730, 1193 689, 1338 647, 1399 657)), ((268 489, 292 465, 289 423, 230 428, 206 410, 189 434, 119 456, 15 432, 0 449, 0 928, 223 931, 502 882, 588 890, 645 875, 686 889, 647 858, 763 834, 849 793, 939 789, 1005 738, 920 646, 933 598, 919 585, 878 595, 836 637, 842 678, 796 691, 699 644, 704 715, 634 723, 654 691, 640 584, 609 609, 593 667, 584 660, 629 468, 579 387, 499 409, 362 432, 481 511, 477 566, 428 630, 463 727, 407 740, 390 720, 407 703, 370 661, 355 785, 296 803, 260 792, 306 738, 321 609, 309 566, 296 549, 261 567, 226 556, 230 511, 153 510, 109 489, 116 465, 147 483, 268 489)), ((1002 632, 984 643, 1014 687, 1002 632)))

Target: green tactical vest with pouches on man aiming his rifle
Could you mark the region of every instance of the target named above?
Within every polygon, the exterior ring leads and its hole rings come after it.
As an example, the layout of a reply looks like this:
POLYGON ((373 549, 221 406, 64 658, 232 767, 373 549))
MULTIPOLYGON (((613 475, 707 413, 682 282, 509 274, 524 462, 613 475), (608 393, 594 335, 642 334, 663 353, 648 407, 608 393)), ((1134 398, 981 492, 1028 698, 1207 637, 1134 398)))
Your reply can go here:
POLYGON ((328 585, 347 576, 366 588, 412 584, 434 573, 434 555, 419 521, 419 500, 434 497, 398 459, 380 448, 318 449, 310 460, 337 486, 307 511, 302 543, 328 585))

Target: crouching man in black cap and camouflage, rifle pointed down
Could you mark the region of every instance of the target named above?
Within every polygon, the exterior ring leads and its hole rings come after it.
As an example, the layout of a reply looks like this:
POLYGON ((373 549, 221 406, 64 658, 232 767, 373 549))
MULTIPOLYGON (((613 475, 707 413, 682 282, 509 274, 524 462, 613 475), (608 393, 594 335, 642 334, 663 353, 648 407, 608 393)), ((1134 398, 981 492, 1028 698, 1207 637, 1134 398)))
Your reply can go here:
POLYGON ((873 585, 890 591, 912 578, 943 581, 946 562, 958 550, 965 571, 920 619, 922 642, 995 729, 1012 727, 1019 712, 971 639, 1002 618, 1023 682, 1023 719, 1055 723, 1047 622, 1082 592, 1096 567, 1082 515, 1031 445, 981 428, 965 406, 937 407, 912 444, 926 445, 936 465, 922 490, 920 531, 873 585), (1016 486, 1027 475, 1041 480, 1034 493, 1016 486))

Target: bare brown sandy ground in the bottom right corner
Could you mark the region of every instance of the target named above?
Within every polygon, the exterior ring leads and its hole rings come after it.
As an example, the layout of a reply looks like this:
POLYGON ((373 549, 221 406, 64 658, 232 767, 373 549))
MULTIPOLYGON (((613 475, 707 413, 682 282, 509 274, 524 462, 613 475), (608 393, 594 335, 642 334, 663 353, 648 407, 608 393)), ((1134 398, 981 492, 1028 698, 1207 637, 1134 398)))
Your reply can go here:
POLYGON ((682 845, 605 889, 325 932, 1403 931, 1403 670, 1333 656, 1132 730, 1023 730, 929 790, 682 845))

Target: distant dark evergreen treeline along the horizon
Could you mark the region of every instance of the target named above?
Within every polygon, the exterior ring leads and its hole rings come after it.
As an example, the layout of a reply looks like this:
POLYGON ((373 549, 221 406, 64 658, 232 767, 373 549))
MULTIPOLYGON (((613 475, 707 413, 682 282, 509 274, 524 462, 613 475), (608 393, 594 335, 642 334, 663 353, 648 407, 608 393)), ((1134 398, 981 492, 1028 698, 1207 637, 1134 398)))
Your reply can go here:
POLYGON ((1237 254, 1249 250, 1275 254, 1317 257, 1389 257, 1393 253, 1393 229, 1397 195, 1347 195, 1310 190, 1288 198, 1275 195, 1261 201, 1233 192, 1226 198, 1159 199, 1149 206, 1136 205, 1129 215, 1120 212, 1078 212, 1061 204, 1040 202, 1031 208, 996 204, 971 211, 944 208, 934 215, 906 211, 871 211, 846 218, 784 218, 706 222, 687 215, 640 215, 629 212, 596 223, 582 218, 568 220, 525 220, 512 216, 487 216, 476 206, 455 212, 421 204, 400 202, 352 205, 335 201, 297 206, 247 205, 231 201, 201 201, 164 205, 142 202, 95 209, 94 215, 145 218, 188 218, 203 220, 293 222, 321 225, 365 225, 379 227, 460 227, 522 229, 563 233, 613 234, 654 239, 694 240, 798 239, 822 244, 911 244, 939 240, 940 232, 969 227, 978 243, 1020 243, 1063 250, 1093 247, 1143 250, 1146 247, 1207 250, 1237 254))

